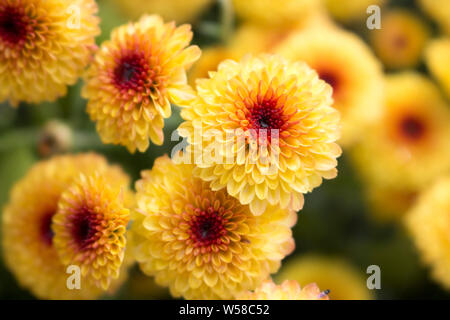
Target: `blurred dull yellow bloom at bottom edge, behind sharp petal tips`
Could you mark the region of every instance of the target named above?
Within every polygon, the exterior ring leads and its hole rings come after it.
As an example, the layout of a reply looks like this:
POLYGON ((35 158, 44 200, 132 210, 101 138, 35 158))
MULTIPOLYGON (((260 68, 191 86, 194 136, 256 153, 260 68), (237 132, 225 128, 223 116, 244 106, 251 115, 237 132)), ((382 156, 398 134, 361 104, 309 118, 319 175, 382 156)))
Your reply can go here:
POLYGON ((328 297, 332 300, 370 300, 372 295, 363 274, 344 260, 307 255, 288 261, 276 279, 316 283, 329 291, 328 297))

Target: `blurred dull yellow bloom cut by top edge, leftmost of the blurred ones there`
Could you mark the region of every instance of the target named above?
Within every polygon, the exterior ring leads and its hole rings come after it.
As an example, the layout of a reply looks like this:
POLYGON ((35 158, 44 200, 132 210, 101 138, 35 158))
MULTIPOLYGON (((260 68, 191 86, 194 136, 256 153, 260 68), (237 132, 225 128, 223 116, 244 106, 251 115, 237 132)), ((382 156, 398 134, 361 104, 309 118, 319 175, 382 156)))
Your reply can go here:
POLYGON ((143 14, 159 14, 165 20, 177 23, 193 22, 213 0, 113 0, 119 8, 133 19, 143 14))

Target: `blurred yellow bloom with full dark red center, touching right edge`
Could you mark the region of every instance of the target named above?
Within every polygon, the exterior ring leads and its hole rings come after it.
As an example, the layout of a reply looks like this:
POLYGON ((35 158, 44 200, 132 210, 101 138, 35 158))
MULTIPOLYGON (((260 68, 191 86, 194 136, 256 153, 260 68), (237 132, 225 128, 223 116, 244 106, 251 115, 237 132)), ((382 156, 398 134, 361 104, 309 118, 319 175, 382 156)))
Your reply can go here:
POLYGON ((383 188, 419 191, 450 169, 450 109, 426 77, 386 79, 385 111, 353 158, 362 178, 383 188))

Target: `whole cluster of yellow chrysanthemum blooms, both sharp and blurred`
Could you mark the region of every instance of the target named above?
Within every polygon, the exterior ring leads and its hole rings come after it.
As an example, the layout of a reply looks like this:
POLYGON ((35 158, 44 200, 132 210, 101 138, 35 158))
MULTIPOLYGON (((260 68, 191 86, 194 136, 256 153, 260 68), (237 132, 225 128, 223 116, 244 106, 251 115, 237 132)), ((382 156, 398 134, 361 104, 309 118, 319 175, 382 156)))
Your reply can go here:
MULTIPOLYGON (((370 299, 360 275, 333 259, 305 256, 275 276, 284 282, 271 279, 295 248, 304 194, 337 176, 342 146, 378 215, 419 198, 407 226, 450 287, 448 179, 417 197, 450 172, 448 103, 424 75, 383 72, 424 58, 450 96, 449 38, 429 41, 421 19, 386 9, 368 36, 372 51, 329 14, 353 23, 386 1, 234 0, 242 25, 200 58, 191 26, 163 19, 194 21, 212 1, 172 1, 117 0, 136 20, 99 47, 94 0, 0 3, 0 101, 53 101, 82 77, 103 143, 130 153, 161 145, 173 105, 188 142, 142 171, 135 193, 97 154, 36 164, 2 215, 5 260, 20 284, 40 298, 98 298, 136 261, 186 299, 370 299), (67 287, 73 265, 81 290, 67 287)), ((433 1, 421 3, 446 30, 433 1)))

